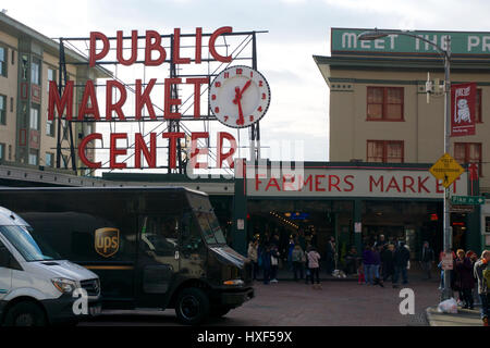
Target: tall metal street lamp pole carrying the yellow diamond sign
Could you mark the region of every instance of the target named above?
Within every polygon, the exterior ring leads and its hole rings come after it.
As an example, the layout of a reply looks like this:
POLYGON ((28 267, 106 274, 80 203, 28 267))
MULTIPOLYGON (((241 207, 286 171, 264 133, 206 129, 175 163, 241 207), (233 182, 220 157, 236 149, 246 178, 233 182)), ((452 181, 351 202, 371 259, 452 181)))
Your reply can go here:
MULTIPOLYGON (((451 38, 445 36, 445 54, 444 54, 444 153, 450 153, 450 134, 451 134, 451 78, 450 78, 450 63, 451 57, 451 38)), ((453 245, 453 231, 451 227, 451 212, 450 212, 450 188, 444 189, 444 252, 451 253, 453 245)), ((441 293, 441 299, 445 300, 452 297, 451 290, 451 271, 444 270, 444 288, 441 293)))

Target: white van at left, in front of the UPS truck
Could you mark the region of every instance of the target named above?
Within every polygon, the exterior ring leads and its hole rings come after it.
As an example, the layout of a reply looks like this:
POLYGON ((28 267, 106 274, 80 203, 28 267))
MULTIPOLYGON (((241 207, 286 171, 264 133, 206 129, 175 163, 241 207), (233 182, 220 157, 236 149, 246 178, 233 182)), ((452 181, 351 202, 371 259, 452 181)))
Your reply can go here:
POLYGON ((0 325, 74 323, 100 313, 97 274, 45 256, 29 228, 17 214, 0 207, 0 325))

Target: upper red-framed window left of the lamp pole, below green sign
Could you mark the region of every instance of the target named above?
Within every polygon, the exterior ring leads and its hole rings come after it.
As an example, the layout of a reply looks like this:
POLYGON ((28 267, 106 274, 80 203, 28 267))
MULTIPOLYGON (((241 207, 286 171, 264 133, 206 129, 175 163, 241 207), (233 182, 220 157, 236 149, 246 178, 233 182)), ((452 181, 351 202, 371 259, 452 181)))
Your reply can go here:
POLYGON ((403 87, 368 87, 368 121, 403 121, 403 87))

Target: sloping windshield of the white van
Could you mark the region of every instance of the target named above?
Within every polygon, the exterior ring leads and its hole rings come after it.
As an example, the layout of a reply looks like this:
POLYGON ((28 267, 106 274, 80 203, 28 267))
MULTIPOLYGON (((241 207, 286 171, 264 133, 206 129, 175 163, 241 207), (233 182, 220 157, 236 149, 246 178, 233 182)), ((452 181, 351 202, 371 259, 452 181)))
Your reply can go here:
MULTIPOLYGON (((29 227, 30 232, 32 228, 29 227)), ((28 261, 60 260, 61 257, 39 236, 30 234, 26 226, 0 226, 0 234, 5 237, 22 257, 28 261)))

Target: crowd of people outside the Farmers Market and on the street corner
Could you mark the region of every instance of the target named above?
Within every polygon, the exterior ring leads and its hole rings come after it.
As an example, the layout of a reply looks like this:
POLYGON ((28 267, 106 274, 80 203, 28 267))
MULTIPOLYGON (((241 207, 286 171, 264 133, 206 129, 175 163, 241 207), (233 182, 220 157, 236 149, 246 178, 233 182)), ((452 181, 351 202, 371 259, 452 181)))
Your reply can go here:
MULTIPOLYGON (((259 241, 252 240, 248 246, 248 258, 253 263, 253 277, 257 279, 259 271, 262 272, 264 284, 278 283, 278 269, 281 262, 285 262, 295 282, 304 281, 311 284, 314 289, 321 289, 320 285, 320 252, 315 247, 314 240, 301 239, 299 236, 291 236, 286 247, 280 248, 278 234, 259 241)), ((338 271, 338 256, 335 240, 331 237, 324 250, 323 264, 328 274, 338 271)), ((442 252, 439 257, 441 269, 441 285, 444 286, 442 271, 442 252)), ((480 258, 471 250, 458 249, 453 252, 453 270, 451 271, 451 287, 457 294, 457 301, 463 308, 474 309, 475 298, 481 306, 481 319, 488 325, 489 312, 489 282, 490 282, 490 251, 486 250, 480 258)), ((425 279, 432 277, 436 263, 436 253, 425 241, 419 253, 420 269, 425 279)), ((359 285, 379 285, 391 281, 393 288, 408 283, 411 268, 411 250, 404 240, 387 240, 380 235, 375 241, 365 243, 362 254, 353 246, 343 258, 342 272, 345 275, 356 275, 359 285)), ((345 276, 344 275, 344 276, 345 276)))

